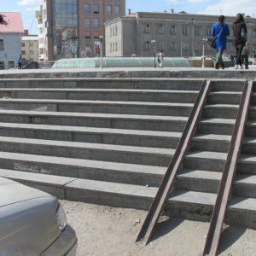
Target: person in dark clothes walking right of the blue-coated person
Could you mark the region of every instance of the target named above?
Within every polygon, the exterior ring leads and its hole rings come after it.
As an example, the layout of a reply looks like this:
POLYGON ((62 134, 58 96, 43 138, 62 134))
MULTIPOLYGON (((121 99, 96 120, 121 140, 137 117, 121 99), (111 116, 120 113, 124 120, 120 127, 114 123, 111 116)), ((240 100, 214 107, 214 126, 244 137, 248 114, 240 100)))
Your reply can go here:
POLYGON ((234 34, 234 46, 236 48, 236 66, 235 68, 242 69, 241 51, 247 42, 247 26, 244 22, 243 15, 237 14, 234 23, 232 24, 234 34))

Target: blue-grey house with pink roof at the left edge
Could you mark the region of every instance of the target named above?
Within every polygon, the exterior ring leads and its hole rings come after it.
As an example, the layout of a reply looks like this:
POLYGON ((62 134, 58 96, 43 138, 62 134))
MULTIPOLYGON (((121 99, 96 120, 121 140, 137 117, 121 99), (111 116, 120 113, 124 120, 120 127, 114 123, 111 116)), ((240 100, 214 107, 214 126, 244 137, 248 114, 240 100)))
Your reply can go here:
POLYGON ((23 32, 20 13, 0 13, 0 69, 17 66, 21 54, 21 34, 23 32))

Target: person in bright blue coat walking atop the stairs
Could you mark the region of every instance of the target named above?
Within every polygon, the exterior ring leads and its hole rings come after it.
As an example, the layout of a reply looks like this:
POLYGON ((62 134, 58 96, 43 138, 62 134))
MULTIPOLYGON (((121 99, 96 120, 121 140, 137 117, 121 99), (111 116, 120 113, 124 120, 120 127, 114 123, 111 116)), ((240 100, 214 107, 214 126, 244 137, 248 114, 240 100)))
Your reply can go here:
POLYGON ((217 60, 215 63, 215 68, 218 69, 222 67, 224 69, 224 62, 222 60, 222 55, 224 53, 224 49, 226 49, 227 44, 227 36, 230 35, 229 25, 224 23, 225 16, 220 15, 218 17, 218 22, 216 22, 212 26, 212 37, 216 38, 215 49, 217 49, 217 60))

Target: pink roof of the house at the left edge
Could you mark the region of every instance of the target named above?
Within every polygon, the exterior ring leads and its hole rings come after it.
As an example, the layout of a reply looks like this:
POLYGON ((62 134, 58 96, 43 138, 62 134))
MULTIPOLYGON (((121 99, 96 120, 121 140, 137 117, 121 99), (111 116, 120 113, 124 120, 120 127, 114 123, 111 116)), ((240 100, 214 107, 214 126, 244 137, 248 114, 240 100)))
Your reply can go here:
POLYGON ((0 33, 23 33, 23 21, 21 14, 18 12, 2 13, 0 17, 3 18, 0 22, 0 33))

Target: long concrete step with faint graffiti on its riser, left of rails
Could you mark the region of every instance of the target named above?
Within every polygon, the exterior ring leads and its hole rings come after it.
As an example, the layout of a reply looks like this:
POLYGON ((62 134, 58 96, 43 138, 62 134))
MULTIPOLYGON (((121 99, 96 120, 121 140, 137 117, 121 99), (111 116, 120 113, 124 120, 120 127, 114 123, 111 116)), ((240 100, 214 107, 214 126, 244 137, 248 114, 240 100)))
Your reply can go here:
POLYGON ((157 187, 166 167, 145 166, 111 161, 0 152, 0 168, 20 172, 79 177, 113 183, 157 187))

